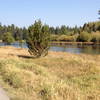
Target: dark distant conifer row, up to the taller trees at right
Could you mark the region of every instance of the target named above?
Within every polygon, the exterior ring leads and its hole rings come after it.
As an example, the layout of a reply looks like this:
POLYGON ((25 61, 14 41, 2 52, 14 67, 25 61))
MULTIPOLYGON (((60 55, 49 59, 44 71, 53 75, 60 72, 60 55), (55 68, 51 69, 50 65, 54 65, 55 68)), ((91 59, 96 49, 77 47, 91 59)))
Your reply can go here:
MULTIPOLYGON (((26 40, 27 35, 29 33, 29 29, 32 27, 33 25, 29 26, 28 28, 24 27, 24 28, 20 28, 15 26, 14 24, 12 25, 2 25, 0 23, 0 40, 3 40, 3 36, 6 33, 10 33, 11 36, 14 38, 15 41, 18 40, 26 40)), ((69 26, 65 26, 62 25, 61 27, 49 27, 49 34, 51 35, 73 35, 75 33, 78 33, 78 27, 75 26, 75 28, 71 28, 69 26)))

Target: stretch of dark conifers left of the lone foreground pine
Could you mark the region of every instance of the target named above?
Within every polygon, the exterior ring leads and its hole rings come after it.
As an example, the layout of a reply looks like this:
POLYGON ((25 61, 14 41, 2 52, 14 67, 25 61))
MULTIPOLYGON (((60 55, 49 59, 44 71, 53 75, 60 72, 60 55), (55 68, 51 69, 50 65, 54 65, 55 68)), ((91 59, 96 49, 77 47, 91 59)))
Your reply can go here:
POLYGON ((19 28, 12 25, 2 25, 0 23, 0 39, 3 40, 4 36, 7 34, 8 36, 12 36, 15 41, 25 40, 27 37, 28 30, 27 28, 19 28))

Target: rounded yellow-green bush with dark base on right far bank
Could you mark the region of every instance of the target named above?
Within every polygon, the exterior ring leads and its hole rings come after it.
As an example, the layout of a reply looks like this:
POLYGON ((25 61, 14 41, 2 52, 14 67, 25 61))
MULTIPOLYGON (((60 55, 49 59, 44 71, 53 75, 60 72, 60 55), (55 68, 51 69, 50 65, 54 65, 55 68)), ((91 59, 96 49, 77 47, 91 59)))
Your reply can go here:
POLYGON ((82 32, 77 38, 79 42, 90 42, 91 41, 91 34, 88 32, 82 32))

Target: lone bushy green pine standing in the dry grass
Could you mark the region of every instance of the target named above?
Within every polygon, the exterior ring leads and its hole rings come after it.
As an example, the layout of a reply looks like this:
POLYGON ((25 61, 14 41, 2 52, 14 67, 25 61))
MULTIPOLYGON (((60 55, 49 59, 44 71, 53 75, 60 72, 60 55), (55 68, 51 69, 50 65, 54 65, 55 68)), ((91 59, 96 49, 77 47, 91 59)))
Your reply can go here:
POLYGON ((46 56, 50 40, 49 26, 42 25, 42 22, 38 20, 28 30, 29 34, 26 43, 29 53, 36 58, 46 56))

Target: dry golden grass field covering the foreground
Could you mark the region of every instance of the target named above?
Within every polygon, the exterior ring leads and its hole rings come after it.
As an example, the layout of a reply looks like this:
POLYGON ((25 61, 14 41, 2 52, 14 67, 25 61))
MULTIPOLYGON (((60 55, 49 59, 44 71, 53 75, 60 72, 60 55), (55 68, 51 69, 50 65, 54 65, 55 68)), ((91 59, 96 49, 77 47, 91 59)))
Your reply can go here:
POLYGON ((11 100, 100 100, 100 55, 0 47, 0 85, 11 100))

